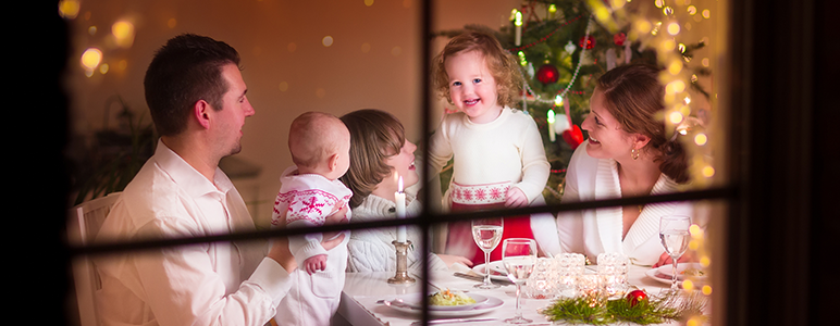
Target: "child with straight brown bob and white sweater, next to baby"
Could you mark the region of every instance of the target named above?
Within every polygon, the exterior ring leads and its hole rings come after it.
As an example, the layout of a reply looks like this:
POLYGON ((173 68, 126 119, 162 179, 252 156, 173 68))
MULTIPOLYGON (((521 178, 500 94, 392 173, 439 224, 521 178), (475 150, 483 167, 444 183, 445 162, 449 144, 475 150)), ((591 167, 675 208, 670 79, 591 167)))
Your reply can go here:
MULTIPOLYGON (((350 168, 341 179, 353 190, 353 222, 395 218, 396 176, 403 177, 406 190, 420 180, 415 165, 417 146, 406 139, 403 125, 387 112, 359 110, 341 120, 350 130, 350 168)), ((410 191, 406 191, 406 206, 408 215, 419 215, 422 209, 416 193, 410 191)), ((420 268, 422 264, 423 254, 417 250, 421 237, 419 227, 407 227, 407 238, 415 248, 408 253, 411 269, 420 268)), ((396 227, 354 230, 347 243, 347 271, 395 271, 394 240, 396 227)), ((454 263, 471 265, 461 256, 429 253, 428 258, 432 269, 446 269, 454 263)))

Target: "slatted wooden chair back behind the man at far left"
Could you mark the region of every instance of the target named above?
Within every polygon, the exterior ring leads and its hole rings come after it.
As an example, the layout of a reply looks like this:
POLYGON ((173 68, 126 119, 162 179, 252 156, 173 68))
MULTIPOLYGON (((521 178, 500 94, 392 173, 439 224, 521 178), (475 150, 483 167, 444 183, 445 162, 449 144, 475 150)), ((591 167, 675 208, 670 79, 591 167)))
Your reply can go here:
MULTIPOLYGON (((84 202, 70 212, 67 233, 72 246, 86 246, 92 241, 102 226, 111 205, 120 198, 120 192, 113 192, 102 198, 84 202)), ((73 260, 73 278, 76 286, 76 300, 82 326, 98 326, 95 293, 102 284, 94 268, 94 263, 87 256, 73 260)))

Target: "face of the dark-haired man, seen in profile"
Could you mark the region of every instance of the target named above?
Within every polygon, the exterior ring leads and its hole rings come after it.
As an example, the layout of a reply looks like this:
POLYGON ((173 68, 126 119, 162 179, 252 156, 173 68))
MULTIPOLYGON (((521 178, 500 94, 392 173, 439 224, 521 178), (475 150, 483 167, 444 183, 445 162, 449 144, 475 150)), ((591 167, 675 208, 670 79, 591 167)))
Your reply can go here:
POLYGON ((222 67, 222 78, 227 83, 227 92, 222 97, 221 110, 213 112, 213 135, 217 138, 217 151, 222 156, 228 156, 242 151, 242 127, 245 118, 254 115, 255 111, 245 96, 248 88, 235 64, 222 67))

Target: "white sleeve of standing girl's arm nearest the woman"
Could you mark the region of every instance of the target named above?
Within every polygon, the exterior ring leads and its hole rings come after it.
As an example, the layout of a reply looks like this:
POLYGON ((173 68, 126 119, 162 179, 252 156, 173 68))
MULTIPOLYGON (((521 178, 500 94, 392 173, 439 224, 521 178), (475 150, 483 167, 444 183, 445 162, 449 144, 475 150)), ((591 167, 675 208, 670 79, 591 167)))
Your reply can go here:
POLYGON ((543 188, 545 188, 551 174, 551 164, 548 164, 548 160, 545 158, 545 148, 543 147, 540 130, 536 129, 536 123, 530 117, 520 142, 522 181, 514 185, 514 187, 524 192, 528 197, 528 202, 533 202, 538 196, 543 193, 543 188))

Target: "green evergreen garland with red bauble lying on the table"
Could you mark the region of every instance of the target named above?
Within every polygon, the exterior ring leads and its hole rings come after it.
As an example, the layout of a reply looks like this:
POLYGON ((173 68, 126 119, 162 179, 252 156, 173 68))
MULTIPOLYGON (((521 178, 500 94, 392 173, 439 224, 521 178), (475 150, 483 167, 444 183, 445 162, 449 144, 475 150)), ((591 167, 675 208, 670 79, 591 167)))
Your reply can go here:
POLYGON ((703 311, 708 299, 699 292, 689 294, 653 297, 631 305, 629 300, 609 300, 606 304, 590 306, 591 300, 583 297, 560 299, 540 311, 551 322, 567 324, 607 325, 633 323, 639 325, 662 324, 707 316, 703 311))

